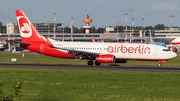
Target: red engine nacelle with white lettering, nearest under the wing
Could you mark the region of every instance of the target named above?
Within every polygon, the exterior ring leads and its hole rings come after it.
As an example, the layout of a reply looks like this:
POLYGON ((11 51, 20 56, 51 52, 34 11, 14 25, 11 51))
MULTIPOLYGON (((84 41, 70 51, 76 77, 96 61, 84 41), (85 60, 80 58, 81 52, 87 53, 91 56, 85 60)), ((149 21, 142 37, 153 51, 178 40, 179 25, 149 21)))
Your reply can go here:
POLYGON ((97 61, 98 63, 115 63, 116 57, 114 55, 99 55, 97 61))

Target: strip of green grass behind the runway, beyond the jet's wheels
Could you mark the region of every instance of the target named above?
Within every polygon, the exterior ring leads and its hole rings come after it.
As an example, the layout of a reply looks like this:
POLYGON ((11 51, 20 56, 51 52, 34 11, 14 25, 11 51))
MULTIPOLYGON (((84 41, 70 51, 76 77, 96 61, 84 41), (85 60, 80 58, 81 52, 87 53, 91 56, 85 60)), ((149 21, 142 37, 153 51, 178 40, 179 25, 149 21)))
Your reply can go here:
MULTIPOLYGON (((24 58, 21 58, 21 54, 0 54, 0 62, 11 62, 11 58, 16 58, 15 63, 40 63, 40 64, 78 64, 78 65, 87 65, 88 60, 75 60, 75 59, 62 59, 55 58, 45 55, 26 55, 24 58)), ((162 66, 180 66, 180 55, 177 58, 162 63, 162 66)), ((126 66, 158 66, 158 61, 128 61, 127 63, 102 63, 101 65, 126 65, 126 66)))

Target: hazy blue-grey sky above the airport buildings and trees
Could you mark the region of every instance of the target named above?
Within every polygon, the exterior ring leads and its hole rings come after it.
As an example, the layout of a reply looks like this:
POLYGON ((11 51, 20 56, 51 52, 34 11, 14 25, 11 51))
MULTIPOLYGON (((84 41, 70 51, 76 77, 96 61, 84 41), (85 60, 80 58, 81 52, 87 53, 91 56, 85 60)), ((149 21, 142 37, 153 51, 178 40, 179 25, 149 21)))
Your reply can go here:
POLYGON ((0 22, 17 24, 15 10, 23 10, 29 20, 39 23, 56 22, 62 26, 70 26, 73 17, 73 26, 85 26, 83 19, 88 14, 92 19, 90 26, 108 27, 119 25, 130 26, 131 17, 134 26, 155 26, 164 24, 180 27, 180 0, 1 0, 0 22), (132 11, 131 11, 132 10, 132 11), (144 20, 142 20, 144 18, 144 20))

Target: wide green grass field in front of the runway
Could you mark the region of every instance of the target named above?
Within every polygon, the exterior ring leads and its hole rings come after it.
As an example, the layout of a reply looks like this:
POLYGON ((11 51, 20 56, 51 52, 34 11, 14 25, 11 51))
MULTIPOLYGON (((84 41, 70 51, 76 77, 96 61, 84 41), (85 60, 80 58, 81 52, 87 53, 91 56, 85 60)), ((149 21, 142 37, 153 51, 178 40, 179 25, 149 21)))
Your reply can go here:
POLYGON ((4 94, 16 101, 178 101, 179 73, 0 68, 4 94))

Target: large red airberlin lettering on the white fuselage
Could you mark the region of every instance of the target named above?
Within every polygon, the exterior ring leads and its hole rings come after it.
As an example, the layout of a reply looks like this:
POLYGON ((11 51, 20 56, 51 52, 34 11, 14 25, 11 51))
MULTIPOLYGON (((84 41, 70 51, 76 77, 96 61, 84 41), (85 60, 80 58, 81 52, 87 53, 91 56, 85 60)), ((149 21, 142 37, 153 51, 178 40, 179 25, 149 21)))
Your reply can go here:
POLYGON ((150 48, 149 47, 144 47, 144 45, 139 45, 138 47, 126 47, 126 46, 117 46, 115 45, 113 46, 109 46, 107 48, 107 52, 109 53, 139 53, 139 54, 143 54, 143 53, 148 53, 150 54, 150 48))

